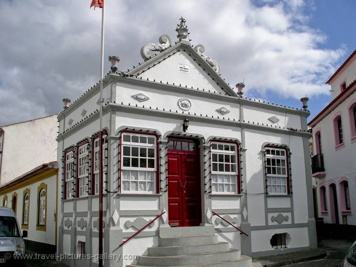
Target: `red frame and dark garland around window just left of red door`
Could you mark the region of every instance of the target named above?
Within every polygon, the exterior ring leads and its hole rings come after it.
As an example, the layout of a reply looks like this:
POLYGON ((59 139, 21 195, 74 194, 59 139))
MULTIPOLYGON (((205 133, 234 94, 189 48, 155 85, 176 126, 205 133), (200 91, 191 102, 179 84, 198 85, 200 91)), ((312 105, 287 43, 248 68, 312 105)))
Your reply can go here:
POLYGON ((121 178, 121 175, 122 175, 122 168, 121 168, 121 164, 122 164, 122 134, 126 134, 126 133, 129 133, 129 134, 145 134, 145 135, 153 135, 156 137, 156 157, 157 157, 157 160, 156 160, 156 194, 159 193, 159 190, 160 190, 160 157, 159 157, 159 151, 160 151, 160 148, 159 148, 159 135, 156 134, 156 133, 153 133, 153 132, 146 132, 146 131, 134 131, 134 130, 123 130, 120 132, 120 142, 119 142, 119 151, 120 151, 120 160, 119 160, 119 176, 120 176, 120 193, 121 193, 121 187, 122 187, 122 184, 121 184, 121 181, 122 181, 122 178, 121 178))

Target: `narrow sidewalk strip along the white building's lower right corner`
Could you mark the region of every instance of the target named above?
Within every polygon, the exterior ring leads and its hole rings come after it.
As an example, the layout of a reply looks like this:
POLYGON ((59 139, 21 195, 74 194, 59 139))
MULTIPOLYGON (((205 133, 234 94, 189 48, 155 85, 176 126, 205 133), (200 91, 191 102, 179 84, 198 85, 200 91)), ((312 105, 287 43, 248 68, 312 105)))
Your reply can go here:
POLYGON ((322 248, 302 250, 279 254, 275 256, 261 257, 252 260, 253 267, 277 267, 286 266, 300 262, 323 259, 326 257, 326 251, 322 248))

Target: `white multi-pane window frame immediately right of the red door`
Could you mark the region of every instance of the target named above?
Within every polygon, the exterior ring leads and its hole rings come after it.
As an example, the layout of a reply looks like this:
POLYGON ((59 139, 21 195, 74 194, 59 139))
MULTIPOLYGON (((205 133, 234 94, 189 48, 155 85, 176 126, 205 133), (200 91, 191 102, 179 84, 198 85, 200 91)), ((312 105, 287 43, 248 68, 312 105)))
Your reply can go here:
MULTIPOLYGON (((227 148, 227 147, 226 147, 227 148)), ((211 149, 211 175, 212 175, 212 194, 226 194, 226 195, 236 195, 239 194, 239 170, 238 170, 238 146, 233 142, 219 142, 212 141, 211 149), (225 150, 225 146, 229 147, 229 150, 225 150), (234 147, 234 151, 231 150, 231 146, 234 147), (216 158, 214 156, 216 154, 216 158), (220 161, 220 156, 223 156, 223 161, 220 161), (225 162, 228 156, 229 160, 225 162), (235 156, 235 162, 232 162, 232 156, 235 156), (225 166, 229 165, 230 171, 225 171, 225 166), (235 172, 231 172, 231 166, 235 166, 235 172), (223 171, 220 168, 223 167, 223 171), (225 178, 228 177, 228 181, 225 181, 225 178), (233 181, 232 178, 235 180, 233 181), (216 184, 217 190, 214 190, 216 184), (223 190, 220 190, 220 186, 223 186, 223 190), (228 185, 228 186, 227 186, 228 185), (233 190, 233 185, 235 190, 233 190), (227 188, 230 188, 229 191, 225 191, 227 188)))

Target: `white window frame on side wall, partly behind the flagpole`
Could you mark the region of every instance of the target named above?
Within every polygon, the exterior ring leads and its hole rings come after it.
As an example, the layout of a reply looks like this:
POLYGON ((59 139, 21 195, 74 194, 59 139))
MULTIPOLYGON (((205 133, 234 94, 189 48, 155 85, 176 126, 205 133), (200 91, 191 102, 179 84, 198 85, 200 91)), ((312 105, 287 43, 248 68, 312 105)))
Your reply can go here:
MULTIPOLYGON (((102 136, 103 141, 103 191, 105 192, 106 189, 106 170, 107 170, 107 135, 104 134, 102 136)), ((100 152, 100 146, 99 146, 99 139, 100 137, 97 136, 93 140, 93 156, 92 156, 92 166, 93 166, 93 179, 94 179, 94 194, 97 195, 99 194, 99 152, 100 152)))

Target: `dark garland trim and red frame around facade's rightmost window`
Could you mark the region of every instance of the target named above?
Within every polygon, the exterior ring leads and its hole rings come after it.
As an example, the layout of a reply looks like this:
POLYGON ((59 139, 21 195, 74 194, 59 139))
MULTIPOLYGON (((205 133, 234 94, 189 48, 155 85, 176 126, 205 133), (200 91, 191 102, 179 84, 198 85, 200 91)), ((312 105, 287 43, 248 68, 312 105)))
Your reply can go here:
MULTIPOLYGON (((265 185, 266 185, 266 195, 268 196, 289 196, 293 194, 293 185, 292 185, 292 174, 291 174, 291 152, 288 146, 286 145, 279 145, 279 144, 266 144, 264 145, 264 166, 265 166, 265 185), (266 149, 271 148, 271 149, 283 149, 285 150, 285 159, 286 159, 286 193, 269 193, 268 192, 268 174, 267 174, 267 155, 266 155, 266 149)), ((273 176, 273 175, 272 175, 273 176)))

